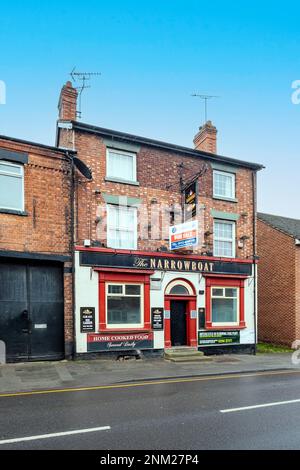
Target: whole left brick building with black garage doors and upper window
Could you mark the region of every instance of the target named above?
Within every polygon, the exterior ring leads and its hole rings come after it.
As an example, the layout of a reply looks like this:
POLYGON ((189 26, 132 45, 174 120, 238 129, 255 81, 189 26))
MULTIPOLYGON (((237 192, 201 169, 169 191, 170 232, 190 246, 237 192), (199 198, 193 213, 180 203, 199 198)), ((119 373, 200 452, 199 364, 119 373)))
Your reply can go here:
POLYGON ((71 208, 67 153, 0 136, 0 341, 8 361, 72 354, 71 208))

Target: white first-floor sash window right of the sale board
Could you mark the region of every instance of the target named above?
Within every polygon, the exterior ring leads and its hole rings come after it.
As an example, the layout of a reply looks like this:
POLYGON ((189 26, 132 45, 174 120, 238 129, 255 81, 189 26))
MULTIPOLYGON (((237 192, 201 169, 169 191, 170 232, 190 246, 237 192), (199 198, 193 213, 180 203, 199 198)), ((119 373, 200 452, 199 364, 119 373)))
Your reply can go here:
POLYGON ((235 257, 235 222, 214 221, 214 256, 235 257))

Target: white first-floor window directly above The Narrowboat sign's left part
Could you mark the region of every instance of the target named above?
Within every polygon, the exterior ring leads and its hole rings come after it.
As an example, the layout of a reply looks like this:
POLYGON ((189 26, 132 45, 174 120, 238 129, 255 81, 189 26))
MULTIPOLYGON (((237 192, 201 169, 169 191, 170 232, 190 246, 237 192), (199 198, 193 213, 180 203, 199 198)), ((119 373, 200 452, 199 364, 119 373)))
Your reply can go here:
POLYGON ((137 208, 107 205, 107 246, 137 248, 137 208))

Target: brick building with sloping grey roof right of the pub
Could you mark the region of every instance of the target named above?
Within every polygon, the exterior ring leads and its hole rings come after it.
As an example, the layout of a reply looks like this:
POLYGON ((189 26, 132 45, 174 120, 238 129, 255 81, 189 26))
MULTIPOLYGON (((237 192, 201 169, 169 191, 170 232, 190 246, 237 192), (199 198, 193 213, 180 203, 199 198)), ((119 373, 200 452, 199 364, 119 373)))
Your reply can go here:
POLYGON ((300 220, 258 213, 259 340, 300 339, 300 220))

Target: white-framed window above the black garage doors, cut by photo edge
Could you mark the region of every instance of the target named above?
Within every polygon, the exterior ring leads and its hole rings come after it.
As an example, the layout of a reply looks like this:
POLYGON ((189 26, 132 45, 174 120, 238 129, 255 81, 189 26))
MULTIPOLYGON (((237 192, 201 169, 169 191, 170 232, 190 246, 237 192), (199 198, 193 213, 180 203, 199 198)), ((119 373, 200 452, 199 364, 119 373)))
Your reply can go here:
POLYGON ((0 209, 24 211, 24 168, 0 162, 0 209))

